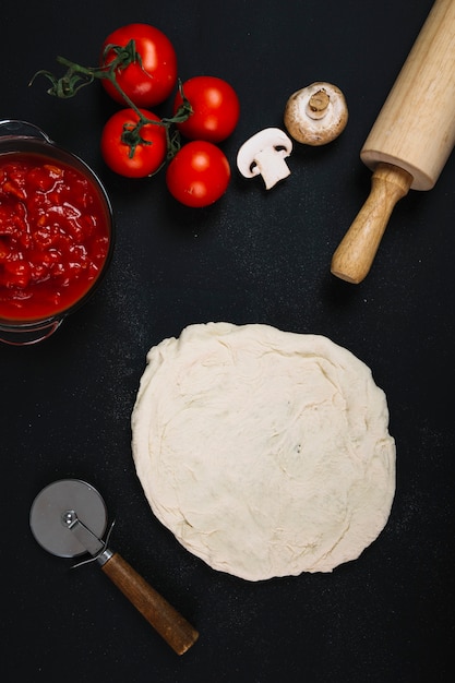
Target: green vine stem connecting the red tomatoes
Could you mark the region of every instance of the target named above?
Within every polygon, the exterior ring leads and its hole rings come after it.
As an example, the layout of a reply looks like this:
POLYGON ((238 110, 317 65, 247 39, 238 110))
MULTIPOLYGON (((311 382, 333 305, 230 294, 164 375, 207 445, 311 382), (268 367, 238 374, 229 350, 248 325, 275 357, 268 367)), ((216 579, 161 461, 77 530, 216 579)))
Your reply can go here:
POLYGON ((115 52, 115 58, 107 64, 103 63, 101 67, 83 67, 64 57, 57 57, 57 62, 67 68, 64 74, 57 77, 50 71, 41 69, 34 74, 28 85, 32 85, 37 76, 45 76, 51 83, 51 87, 47 91, 49 95, 61 99, 69 99, 70 97, 74 97, 82 87, 89 85, 95 80, 107 79, 118 91, 125 105, 135 111, 139 119, 137 123, 134 125, 125 124, 121 135, 122 143, 130 147, 130 157, 134 156, 137 145, 153 144, 151 141, 144 140, 141 136, 141 129, 147 123, 151 123, 153 125, 163 125, 166 129, 167 159, 171 159, 180 149, 180 135, 178 131, 173 130, 173 124, 185 121, 193 113, 191 104, 184 96, 180 79, 178 80, 178 88, 182 104, 175 116, 171 118, 163 118, 159 121, 148 119, 123 92, 116 77, 117 71, 127 69, 127 67, 132 63, 139 63, 142 67, 141 56, 135 50, 134 40, 130 40, 124 47, 107 45, 103 58, 105 59, 107 53, 111 50, 115 52))

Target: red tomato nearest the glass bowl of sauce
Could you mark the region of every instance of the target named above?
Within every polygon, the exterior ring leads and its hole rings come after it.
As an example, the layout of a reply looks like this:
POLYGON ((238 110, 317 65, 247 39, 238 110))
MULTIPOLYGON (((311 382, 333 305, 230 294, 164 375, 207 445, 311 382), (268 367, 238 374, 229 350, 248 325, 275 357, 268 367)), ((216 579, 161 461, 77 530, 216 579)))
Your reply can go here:
MULTIPOLYGON (((147 111, 140 109, 147 119, 159 121, 159 118, 147 111)), ((134 127, 139 121, 139 116, 134 109, 120 109, 106 122, 101 133, 101 155, 105 163, 111 170, 128 178, 145 178, 151 176, 161 166, 166 158, 167 140, 164 125, 145 123, 140 135, 151 144, 137 144, 133 156, 131 146, 122 142, 124 125, 134 127)))

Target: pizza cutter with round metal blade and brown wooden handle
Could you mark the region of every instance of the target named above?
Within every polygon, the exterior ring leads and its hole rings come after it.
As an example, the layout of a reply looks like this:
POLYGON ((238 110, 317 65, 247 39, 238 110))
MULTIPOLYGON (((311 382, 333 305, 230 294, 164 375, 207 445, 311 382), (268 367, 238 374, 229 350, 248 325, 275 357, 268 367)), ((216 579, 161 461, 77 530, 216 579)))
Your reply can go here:
MULTIPOLYGON (((199 633, 128 562, 108 548, 106 505, 86 481, 61 479, 45 487, 35 498, 29 525, 37 542, 59 558, 92 555, 141 614, 178 654, 183 655, 199 633)), ((82 562, 81 564, 84 564, 82 562)))

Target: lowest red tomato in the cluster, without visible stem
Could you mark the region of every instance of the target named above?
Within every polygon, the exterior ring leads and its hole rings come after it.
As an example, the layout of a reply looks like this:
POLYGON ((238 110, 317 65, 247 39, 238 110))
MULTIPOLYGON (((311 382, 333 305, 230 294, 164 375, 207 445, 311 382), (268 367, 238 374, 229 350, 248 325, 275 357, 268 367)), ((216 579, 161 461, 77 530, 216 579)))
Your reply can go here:
POLYGON ((208 206, 226 192, 230 167, 225 154, 211 142, 183 145, 166 171, 171 195, 187 206, 208 206))

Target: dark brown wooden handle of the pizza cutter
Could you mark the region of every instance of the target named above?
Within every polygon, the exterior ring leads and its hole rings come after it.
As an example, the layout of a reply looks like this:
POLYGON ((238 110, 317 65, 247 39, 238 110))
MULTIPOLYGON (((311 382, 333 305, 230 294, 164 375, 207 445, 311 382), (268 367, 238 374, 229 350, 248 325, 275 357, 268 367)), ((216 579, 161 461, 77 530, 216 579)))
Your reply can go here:
POLYGON ((197 631, 119 553, 113 553, 101 570, 178 655, 196 642, 197 631))

